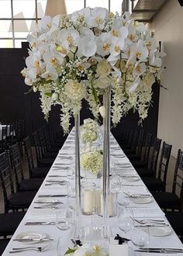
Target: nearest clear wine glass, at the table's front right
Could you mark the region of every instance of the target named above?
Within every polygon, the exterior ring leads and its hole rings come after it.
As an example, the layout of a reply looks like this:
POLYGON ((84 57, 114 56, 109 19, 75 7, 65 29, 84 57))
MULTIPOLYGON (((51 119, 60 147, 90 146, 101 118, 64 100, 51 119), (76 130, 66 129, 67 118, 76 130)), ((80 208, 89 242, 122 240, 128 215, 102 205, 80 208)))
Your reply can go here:
POLYGON ((146 246, 150 242, 149 228, 146 226, 134 228, 131 234, 131 240, 136 247, 146 246))

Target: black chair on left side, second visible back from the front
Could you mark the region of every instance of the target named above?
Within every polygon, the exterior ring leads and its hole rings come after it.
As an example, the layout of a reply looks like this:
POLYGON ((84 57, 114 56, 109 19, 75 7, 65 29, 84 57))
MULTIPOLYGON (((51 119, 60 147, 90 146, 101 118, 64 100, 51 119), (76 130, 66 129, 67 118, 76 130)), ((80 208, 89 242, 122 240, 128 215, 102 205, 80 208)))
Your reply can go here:
POLYGON ((24 178, 22 159, 19 153, 19 145, 16 143, 9 147, 10 160, 16 178, 16 191, 37 191, 43 183, 43 178, 24 178))

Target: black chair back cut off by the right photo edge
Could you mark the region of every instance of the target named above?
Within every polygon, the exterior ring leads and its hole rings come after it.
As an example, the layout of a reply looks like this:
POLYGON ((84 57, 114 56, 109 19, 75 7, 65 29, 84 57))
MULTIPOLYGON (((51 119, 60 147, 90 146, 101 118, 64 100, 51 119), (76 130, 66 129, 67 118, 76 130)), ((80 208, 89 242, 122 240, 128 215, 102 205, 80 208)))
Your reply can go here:
POLYGON ((178 150, 178 157, 174 168, 174 181, 172 192, 179 193, 181 202, 183 202, 183 151, 178 150))

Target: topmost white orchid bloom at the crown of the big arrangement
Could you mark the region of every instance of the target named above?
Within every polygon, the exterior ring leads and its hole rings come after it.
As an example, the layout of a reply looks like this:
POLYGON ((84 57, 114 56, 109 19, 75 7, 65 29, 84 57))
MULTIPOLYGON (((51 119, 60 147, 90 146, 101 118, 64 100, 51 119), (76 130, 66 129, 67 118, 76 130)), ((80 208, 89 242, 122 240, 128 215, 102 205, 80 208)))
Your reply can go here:
POLYGON ((102 7, 95 7, 91 10, 91 16, 88 16, 86 22, 88 26, 103 29, 105 25, 105 17, 107 16, 107 9, 102 7))

